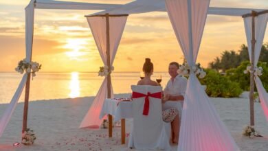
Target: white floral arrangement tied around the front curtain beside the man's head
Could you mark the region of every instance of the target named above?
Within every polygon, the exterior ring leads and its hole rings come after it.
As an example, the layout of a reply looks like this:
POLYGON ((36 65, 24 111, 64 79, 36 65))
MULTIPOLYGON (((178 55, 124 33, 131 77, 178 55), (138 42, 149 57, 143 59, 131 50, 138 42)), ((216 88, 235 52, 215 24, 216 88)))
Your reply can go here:
POLYGON ((179 75, 188 76, 190 75, 190 71, 193 71, 195 75, 199 76, 199 78, 205 78, 205 71, 200 66, 200 63, 198 63, 195 66, 190 67, 187 62, 183 63, 177 70, 177 73, 179 75))

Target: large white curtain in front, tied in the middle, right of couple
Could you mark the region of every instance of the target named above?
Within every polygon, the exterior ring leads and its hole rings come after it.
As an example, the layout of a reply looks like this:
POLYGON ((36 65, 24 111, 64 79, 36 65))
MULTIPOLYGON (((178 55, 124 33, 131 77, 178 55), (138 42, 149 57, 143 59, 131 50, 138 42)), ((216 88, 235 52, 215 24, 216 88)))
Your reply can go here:
MULTIPOLYGON (((166 10, 183 54, 194 66, 210 0, 166 0, 166 10)), ((190 73, 178 150, 239 150, 196 75, 190 73)))

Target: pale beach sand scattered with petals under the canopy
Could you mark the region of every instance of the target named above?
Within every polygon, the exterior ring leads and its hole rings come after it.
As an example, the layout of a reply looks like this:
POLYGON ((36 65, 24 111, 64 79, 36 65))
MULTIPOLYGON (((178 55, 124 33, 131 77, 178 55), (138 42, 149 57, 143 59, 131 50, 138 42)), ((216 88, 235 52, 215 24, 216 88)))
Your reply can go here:
MULTIPOLYGON (((127 95, 128 96, 128 95, 127 95)), ((126 97, 126 94, 115 95, 126 97)), ((268 150, 268 122, 263 115, 259 103, 255 104, 256 130, 264 137, 243 137, 243 127, 249 124, 249 100, 244 98, 210 98, 225 123, 232 137, 241 150, 268 150)), ((34 130, 36 141, 32 146, 12 146, 21 141, 23 104, 19 103, 12 115, 10 123, 0 138, 0 150, 130 150, 126 144, 121 145, 120 127, 113 129, 113 137, 109 138, 107 129, 79 129, 80 122, 86 115, 93 97, 75 99, 42 100, 30 102, 28 128, 34 130)), ((0 105, 0 116, 7 104, 0 105)), ((126 133, 130 132, 131 119, 126 119, 126 133)), ((172 146, 177 150, 177 146, 172 146)))

